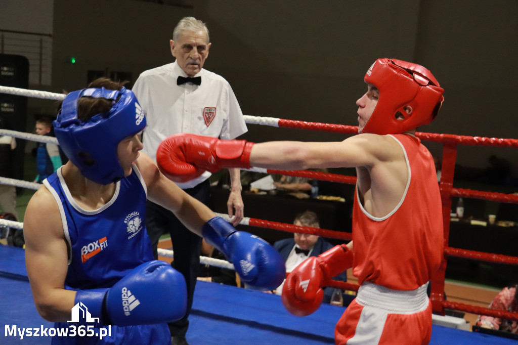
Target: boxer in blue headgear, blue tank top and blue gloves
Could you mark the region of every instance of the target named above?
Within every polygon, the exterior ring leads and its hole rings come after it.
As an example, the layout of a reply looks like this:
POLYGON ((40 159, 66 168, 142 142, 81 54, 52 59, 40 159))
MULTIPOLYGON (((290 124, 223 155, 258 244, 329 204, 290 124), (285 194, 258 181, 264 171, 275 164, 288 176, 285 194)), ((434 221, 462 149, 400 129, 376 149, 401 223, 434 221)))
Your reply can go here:
POLYGON ((53 344, 170 344, 166 323, 185 313, 185 281, 169 264, 152 260, 146 198, 198 236, 222 243, 235 264, 257 267, 240 271, 256 289, 269 289, 285 274, 282 261, 268 257, 266 242, 236 233, 139 152, 145 124, 133 93, 106 78, 63 101, 54 126, 69 162, 27 205, 27 274, 38 312, 56 328, 93 326, 99 334, 98 327, 109 326, 111 334, 55 336, 53 344))

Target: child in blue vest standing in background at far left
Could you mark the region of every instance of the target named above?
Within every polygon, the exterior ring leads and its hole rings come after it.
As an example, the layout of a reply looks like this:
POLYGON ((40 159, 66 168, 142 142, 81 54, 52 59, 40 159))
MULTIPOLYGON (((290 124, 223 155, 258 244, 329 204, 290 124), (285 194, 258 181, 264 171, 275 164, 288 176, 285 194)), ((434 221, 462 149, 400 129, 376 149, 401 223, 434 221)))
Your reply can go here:
MULTIPOLYGON (((36 134, 53 136, 52 119, 44 116, 36 120, 36 134)), ((34 182, 41 183, 62 165, 60 149, 53 143, 36 143, 36 171, 34 182)))

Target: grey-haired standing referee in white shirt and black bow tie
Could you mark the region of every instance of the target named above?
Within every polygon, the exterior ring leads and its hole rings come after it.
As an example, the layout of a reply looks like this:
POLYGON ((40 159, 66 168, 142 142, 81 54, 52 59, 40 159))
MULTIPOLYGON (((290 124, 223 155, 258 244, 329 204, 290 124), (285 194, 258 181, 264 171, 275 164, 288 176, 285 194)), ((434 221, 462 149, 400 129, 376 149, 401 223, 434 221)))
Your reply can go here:
MULTIPOLYGON (((180 20, 170 40, 175 62, 143 71, 133 92, 146 116, 142 152, 155 160, 156 149, 168 136, 191 133, 220 139, 235 139, 247 132, 243 113, 231 86, 221 76, 203 68, 211 43, 205 23, 193 17, 180 20)), ((243 219, 239 168, 229 168, 231 193, 228 216, 235 226, 243 219)), ((185 176, 177 185, 208 205, 210 172, 185 176)), ((193 302, 199 270, 202 239, 193 235, 172 212, 148 202, 146 227, 157 258, 157 244, 162 234, 170 234, 175 252, 174 267, 185 277, 188 287, 188 312, 185 318, 169 324, 173 343, 186 344, 188 315, 193 302)))

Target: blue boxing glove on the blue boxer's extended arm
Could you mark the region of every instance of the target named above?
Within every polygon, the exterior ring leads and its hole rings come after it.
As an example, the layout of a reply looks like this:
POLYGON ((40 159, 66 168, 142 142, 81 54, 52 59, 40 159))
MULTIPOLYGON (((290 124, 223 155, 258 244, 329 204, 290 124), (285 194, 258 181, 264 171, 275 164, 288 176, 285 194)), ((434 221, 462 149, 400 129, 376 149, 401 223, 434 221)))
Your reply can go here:
POLYGON ((262 238, 237 231, 221 217, 205 223, 203 237, 234 264, 241 280, 251 289, 274 290, 286 277, 284 260, 274 247, 262 238))

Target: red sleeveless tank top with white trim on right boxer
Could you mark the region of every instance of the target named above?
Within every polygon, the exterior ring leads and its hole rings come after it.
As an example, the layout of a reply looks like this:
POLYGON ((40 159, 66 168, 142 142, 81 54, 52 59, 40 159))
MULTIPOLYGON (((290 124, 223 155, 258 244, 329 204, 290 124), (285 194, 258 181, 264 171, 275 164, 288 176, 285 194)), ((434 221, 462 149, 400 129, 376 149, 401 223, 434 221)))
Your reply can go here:
POLYGON ((372 217, 354 195, 353 274, 393 290, 414 290, 428 282, 441 262, 443 231, 434 160, 419 138, 393 135, 405 151, 409 181, 399 204, 383 218, 372 217))

